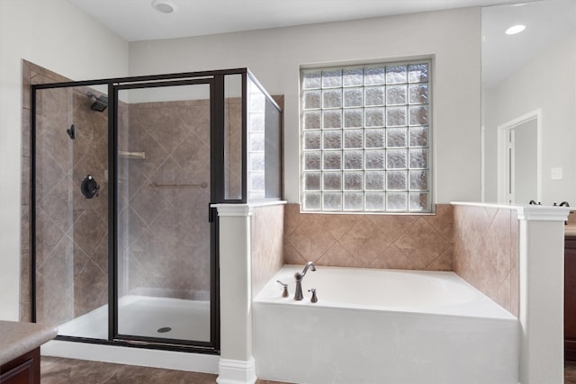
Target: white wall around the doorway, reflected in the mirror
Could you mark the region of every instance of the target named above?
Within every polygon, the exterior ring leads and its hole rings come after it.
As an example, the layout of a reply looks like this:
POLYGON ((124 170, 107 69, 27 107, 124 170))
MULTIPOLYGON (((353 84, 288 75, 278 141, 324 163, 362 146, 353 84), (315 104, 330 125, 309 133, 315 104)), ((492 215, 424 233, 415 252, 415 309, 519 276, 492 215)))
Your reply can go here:
POLYGON ((486 201, 497 201, 497 129, 542 109, 542 203, 576 205, 576 30, 532 58, 500 85, 484 90, 486 201), (551 168, 563 180, 551 180, 551 168))

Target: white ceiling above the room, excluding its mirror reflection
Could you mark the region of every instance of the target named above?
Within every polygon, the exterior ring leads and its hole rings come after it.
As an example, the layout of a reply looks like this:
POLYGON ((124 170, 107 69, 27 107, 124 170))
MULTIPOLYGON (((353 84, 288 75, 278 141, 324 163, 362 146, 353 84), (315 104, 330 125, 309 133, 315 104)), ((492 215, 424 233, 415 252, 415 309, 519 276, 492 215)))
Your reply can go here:
POLYGON ((160 13, 152 0, 68 0, 127 41, 365 19, 518 0, 166 0, 174 13, 160 13))

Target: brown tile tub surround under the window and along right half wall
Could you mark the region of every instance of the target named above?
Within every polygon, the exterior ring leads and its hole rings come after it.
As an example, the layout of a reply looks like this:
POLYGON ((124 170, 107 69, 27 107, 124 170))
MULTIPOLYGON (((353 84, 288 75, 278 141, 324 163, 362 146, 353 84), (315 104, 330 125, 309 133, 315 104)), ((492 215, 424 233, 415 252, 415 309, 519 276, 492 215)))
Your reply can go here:
POLYGON ((516 210, 437 204, 436 215, 356 215, 301 213, 299 204, 287 204, 284 263, 310 260, 454 271, 518 316, 516 210), (475 249, 482 249, 482 255, 475 249))

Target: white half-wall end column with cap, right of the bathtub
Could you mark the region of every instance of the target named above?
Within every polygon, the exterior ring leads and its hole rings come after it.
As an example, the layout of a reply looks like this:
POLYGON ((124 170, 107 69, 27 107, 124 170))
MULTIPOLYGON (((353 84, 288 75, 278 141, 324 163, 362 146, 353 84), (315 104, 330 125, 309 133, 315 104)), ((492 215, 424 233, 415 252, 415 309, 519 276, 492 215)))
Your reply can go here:
POLYGON ((523 206, 519 219, 519 379, 564 380, 564 220, 569 209, 523 206))

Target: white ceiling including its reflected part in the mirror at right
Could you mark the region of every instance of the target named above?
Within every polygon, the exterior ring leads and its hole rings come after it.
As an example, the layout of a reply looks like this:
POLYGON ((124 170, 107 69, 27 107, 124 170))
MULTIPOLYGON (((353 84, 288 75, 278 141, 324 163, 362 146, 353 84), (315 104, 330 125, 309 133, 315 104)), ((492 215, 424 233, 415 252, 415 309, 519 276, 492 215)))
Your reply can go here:
POLYGON ((482 84, 497 85, 527 59, 576 27, 575 0, 68 0, 127 41, 160 40, 337 22, 402 13, 482 8, 482 84), (517 4, 514 4, 517 3, 517 4), (507 36, 512 23, 526 31, 507 36))

